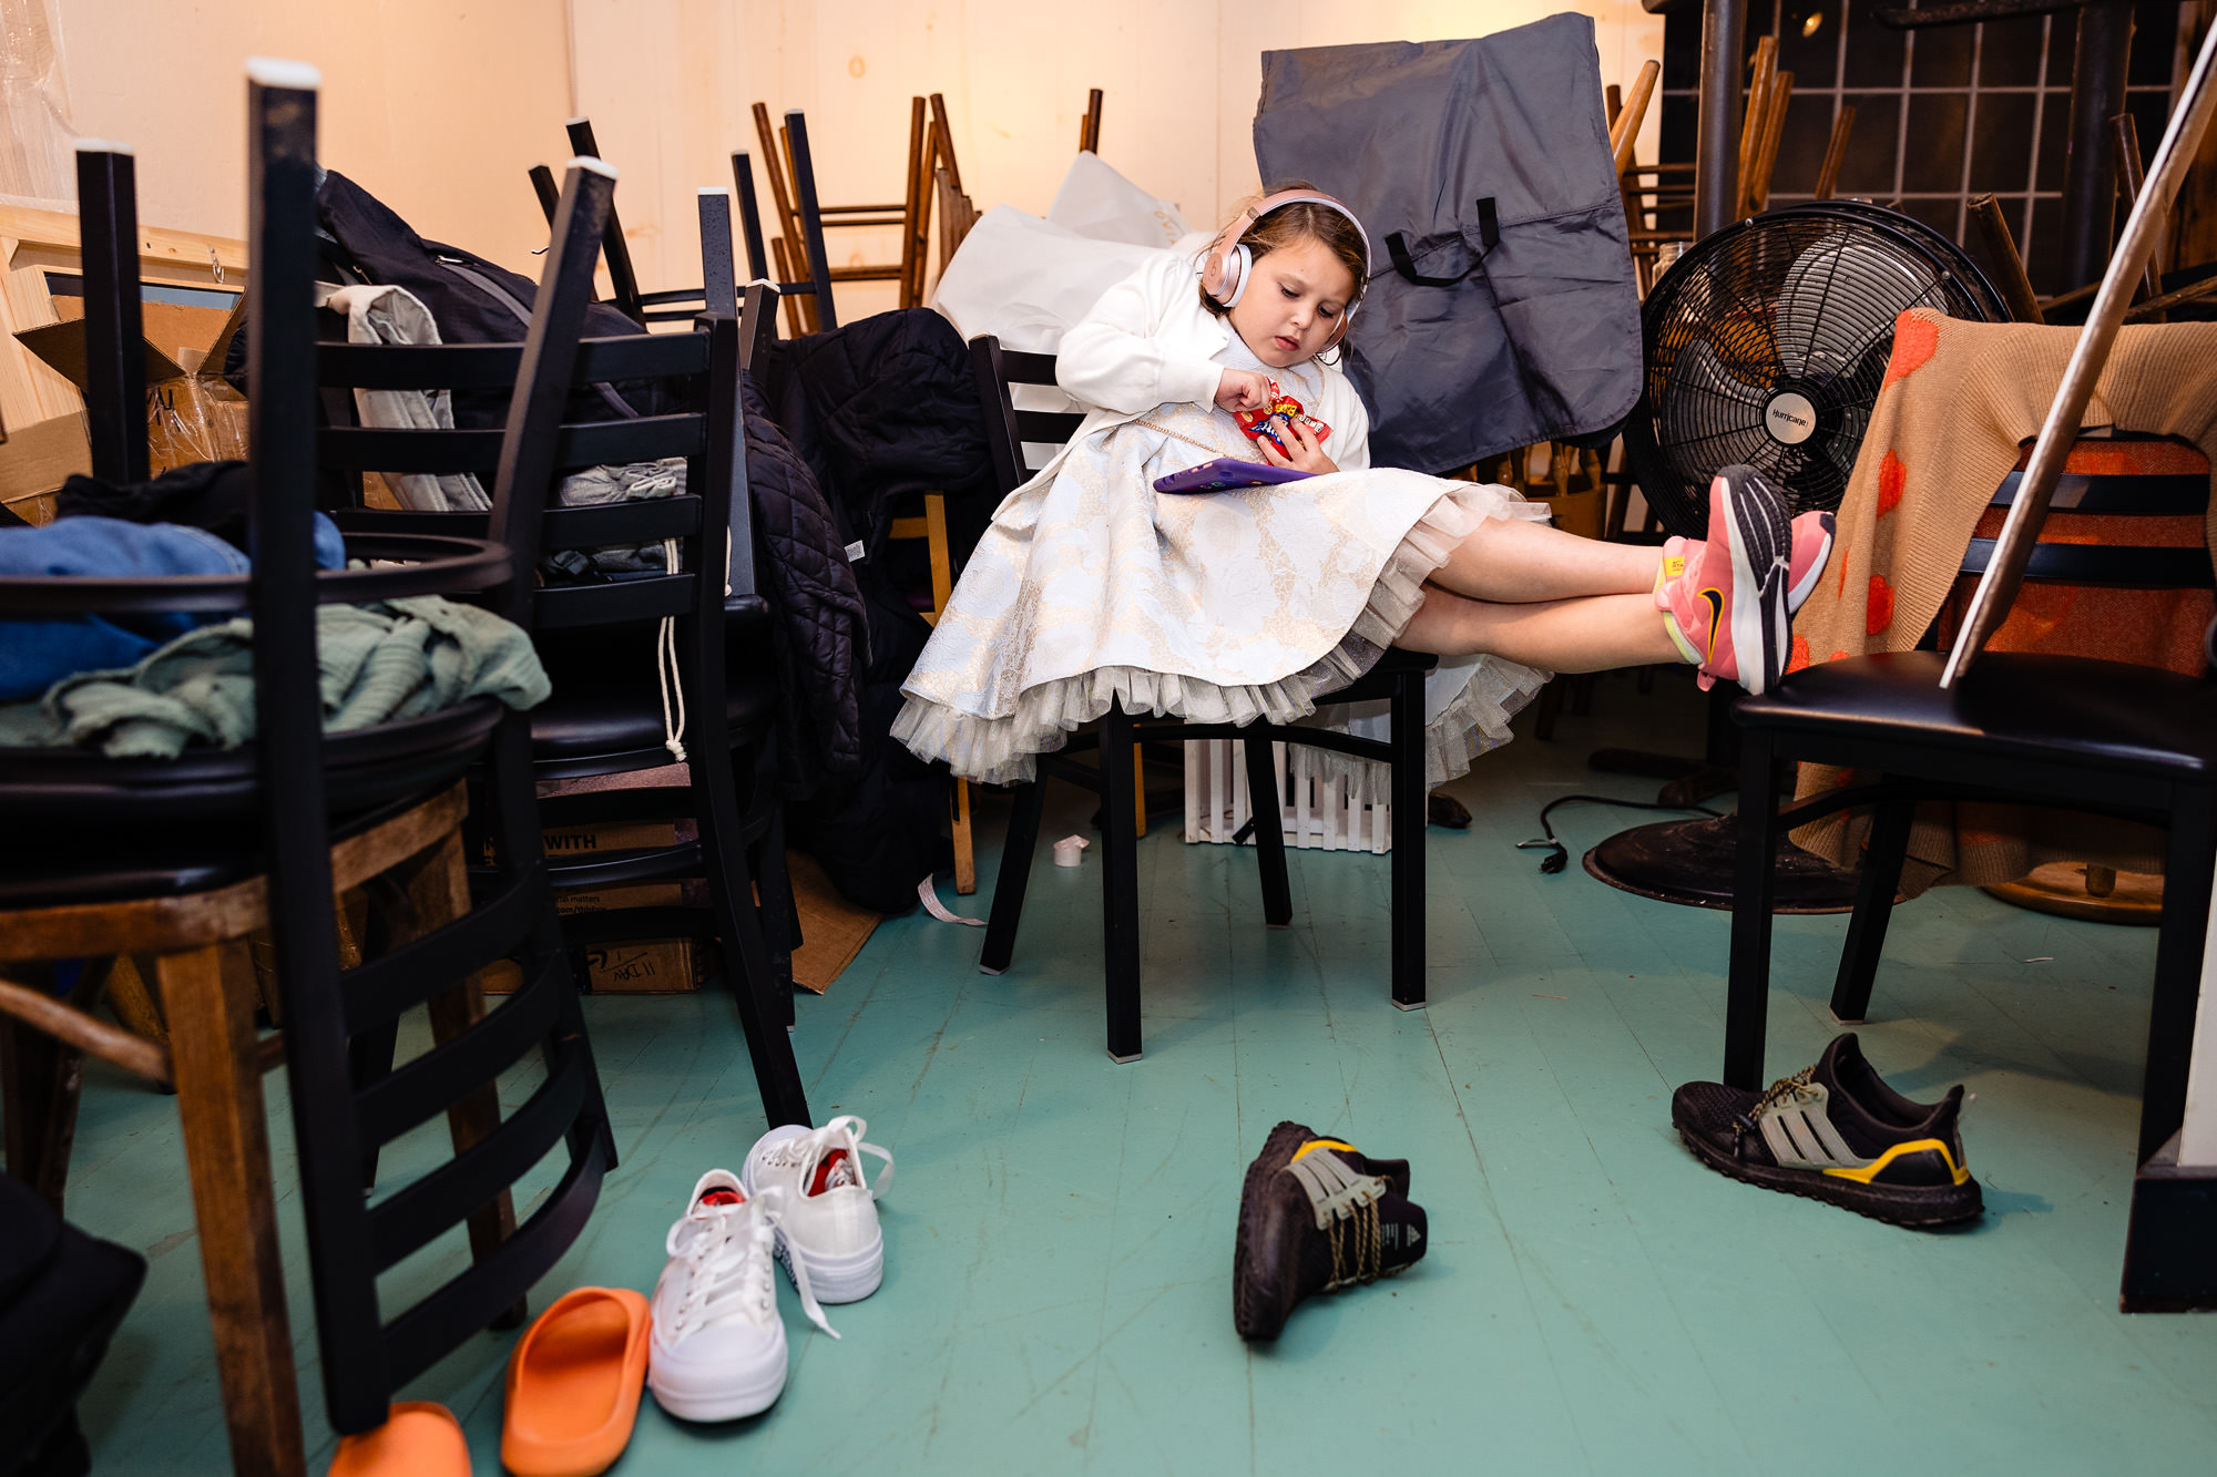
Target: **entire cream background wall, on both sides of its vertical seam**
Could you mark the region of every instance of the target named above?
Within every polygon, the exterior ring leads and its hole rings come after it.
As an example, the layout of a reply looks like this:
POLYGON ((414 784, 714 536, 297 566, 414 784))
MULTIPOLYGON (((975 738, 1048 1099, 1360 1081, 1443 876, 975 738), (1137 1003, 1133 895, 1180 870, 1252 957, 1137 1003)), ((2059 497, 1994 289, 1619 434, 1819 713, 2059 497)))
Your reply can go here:
MULTIPOLYGON (((151 224, 244 233, 246 55, 324 69, 324 162, 423 235, 517 268, 545 228, 525 171, 568 155, 592 118, 623 171, 616 202, 643 286, 698 282, 694 191, 758 153, 749 104, 805 109, 831 204, 898 200, 909 98, 944 93, 980 208, 1044 211, 1077 144, 1086 89, 1106 91, 1102 157, 1215 222, 1253 191, 1261 51, 1483 35, 1556 0, 58 0, 80 133, 140 155, 151 224)), ((1581 0, 1605 82, 1661 55, 1638 0, 1581 0)), ((1649 137, 1654 115, 1649 115, 1649 137)), ((1645 157, 1652 157, 1652 146, 1645 157)), ((758 191, 765 208, 767 180, 758 191)), ((893 253, 838 237, 840 259, 893 253)), ((893 286, 840 288, 842 315, 893 286)))

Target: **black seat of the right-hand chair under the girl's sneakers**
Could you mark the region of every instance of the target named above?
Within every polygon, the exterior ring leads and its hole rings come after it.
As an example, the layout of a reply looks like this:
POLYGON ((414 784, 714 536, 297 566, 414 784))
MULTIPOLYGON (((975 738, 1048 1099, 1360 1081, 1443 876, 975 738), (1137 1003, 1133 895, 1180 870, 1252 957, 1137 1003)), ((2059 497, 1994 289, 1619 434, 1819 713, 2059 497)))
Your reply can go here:
POLYGON ((1911 741, 1982 761, 2064 763, 2153 778, 2204 781, 2217 770, 2217 683, 2088 656, 1986 652, 1940 687, 1940 652, 1827 661, 1763 696, 1743 696, 1743 727, 1822 734, 1825 747, 1911 741))

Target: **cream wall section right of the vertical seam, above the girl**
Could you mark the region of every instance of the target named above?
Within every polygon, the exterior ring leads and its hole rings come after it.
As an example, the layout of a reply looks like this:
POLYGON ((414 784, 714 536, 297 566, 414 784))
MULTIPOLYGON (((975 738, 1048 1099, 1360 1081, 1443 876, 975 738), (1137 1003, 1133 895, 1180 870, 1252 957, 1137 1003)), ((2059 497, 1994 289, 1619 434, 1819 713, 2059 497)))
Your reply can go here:
MULTIPOLYGON (((1259 182, 1261 53, 1366 40, 1483 35, 1561 9, 1596 18, 1603 82, 1663 53, 1638 0, 570 0, 576 98, 619 189, 645 286, 698 279, 694 189, 760 155, 749 104, 805 109, 827 202, 898 200, 909 98, 944 93, 962 184, 980 208, 1044 211, 1077 146, 1086 89, 1106 93, 1102 157, 1188 222, 1213 224, 1259 182), (663 38, 641 44, 643 35, 663 38)), ((1649 111, 1647 151, 1654 157, 1649 111)), ((756 189, 769 200, 756 164, 756 189)), ((838 262, 887 259, 893 233, 834 237, 838 262)), ((840 288, 842 317, 891 306, 891 284, 840 288)))

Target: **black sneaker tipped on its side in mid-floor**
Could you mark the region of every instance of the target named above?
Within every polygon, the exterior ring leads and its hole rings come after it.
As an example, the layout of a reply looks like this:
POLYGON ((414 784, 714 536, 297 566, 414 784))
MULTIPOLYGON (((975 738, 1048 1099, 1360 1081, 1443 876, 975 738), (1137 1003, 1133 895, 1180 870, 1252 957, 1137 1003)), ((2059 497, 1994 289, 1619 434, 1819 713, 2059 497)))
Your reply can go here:
POLYGON ((1426 1249, 1423 1206, 1408 1198, 1408 1160, 1281 1122, 1248 1164, 1233 1246, 1233 1324, 1275 1340, 1312 1293, 1377 1282, 1426 1249))

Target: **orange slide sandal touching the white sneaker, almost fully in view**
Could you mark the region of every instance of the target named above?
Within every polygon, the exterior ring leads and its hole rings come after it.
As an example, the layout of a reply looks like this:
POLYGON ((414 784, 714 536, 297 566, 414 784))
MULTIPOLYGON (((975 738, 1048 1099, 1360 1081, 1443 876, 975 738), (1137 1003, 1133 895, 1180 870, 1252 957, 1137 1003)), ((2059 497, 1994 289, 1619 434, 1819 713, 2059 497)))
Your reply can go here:
POLYGON ((594 1477, 632 1439, 647 1384, 647 1300, 581 1286, 539 1315, 508 1359, 501 1464, 517 1477, 594 1477))

